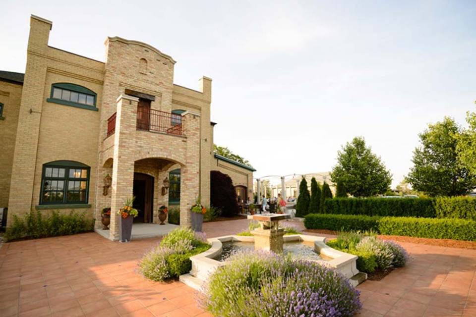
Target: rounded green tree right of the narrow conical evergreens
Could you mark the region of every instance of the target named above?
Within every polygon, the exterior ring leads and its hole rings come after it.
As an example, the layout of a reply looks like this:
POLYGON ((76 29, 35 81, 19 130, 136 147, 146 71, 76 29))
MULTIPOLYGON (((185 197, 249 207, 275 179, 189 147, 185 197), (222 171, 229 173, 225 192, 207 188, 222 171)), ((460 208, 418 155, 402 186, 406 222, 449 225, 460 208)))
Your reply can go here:
POLYGON ((338 152, 331 180, 344 183, 347 193, 355 197, 368 197, 385 193, 392 183, 392 175, 365 145, 364 138, 356 137, 338 152))

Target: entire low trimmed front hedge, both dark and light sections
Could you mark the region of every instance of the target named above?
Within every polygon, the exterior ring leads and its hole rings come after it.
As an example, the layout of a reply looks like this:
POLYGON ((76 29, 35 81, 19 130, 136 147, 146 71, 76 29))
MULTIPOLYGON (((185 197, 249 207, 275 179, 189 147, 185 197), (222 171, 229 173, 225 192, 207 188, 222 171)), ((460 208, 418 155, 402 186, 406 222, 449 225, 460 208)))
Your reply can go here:
POLYGON ((304 225, 307 229, 374 230, 385 235, 476 241, 476 221, 466 219, 310 213, 304 225))

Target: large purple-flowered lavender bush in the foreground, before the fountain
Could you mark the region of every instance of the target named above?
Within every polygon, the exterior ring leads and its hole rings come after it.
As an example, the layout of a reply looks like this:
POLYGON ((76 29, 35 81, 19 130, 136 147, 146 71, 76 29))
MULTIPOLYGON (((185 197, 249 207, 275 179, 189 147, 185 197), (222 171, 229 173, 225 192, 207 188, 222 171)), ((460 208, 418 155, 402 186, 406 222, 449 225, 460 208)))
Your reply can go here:
POLYGON ((268 252, 240 252, 205 285, 203 305, 220 317, 353 316, 359 292, 315 262, 268 252))

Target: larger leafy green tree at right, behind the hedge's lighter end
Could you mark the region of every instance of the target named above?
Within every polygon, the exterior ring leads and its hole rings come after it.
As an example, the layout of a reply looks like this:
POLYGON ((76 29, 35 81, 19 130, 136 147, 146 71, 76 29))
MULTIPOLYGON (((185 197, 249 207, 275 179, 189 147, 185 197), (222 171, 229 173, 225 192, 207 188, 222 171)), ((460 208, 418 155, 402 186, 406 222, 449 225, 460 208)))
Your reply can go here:
POLYGON ((414 190, 429 196, 459 196, 476 187, 475 176, 458 159, 458 140, 465 137, 452 118, 429 124, 419 138, 421 145, 413 152, 414 166, 406 177, 414 190))

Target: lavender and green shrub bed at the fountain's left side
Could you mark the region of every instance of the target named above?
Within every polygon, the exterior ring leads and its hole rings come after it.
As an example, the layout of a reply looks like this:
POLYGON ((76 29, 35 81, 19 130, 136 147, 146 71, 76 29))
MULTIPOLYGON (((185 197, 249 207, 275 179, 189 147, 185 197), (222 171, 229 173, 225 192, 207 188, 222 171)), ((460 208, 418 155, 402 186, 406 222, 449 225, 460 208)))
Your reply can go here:
POLYGON ((179 277, 191 269, 190 257, 210 249, 204 234, 177 228, 166 235, 160 245, 147 252, 139 263, 139 271, 153 281, 179 277))

